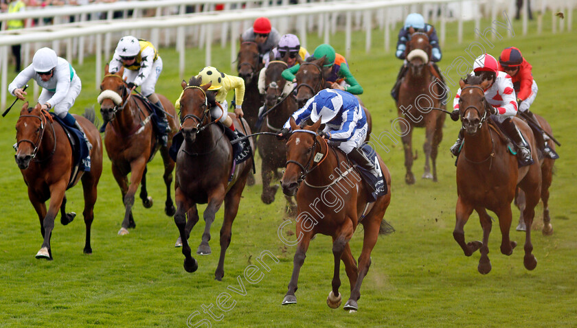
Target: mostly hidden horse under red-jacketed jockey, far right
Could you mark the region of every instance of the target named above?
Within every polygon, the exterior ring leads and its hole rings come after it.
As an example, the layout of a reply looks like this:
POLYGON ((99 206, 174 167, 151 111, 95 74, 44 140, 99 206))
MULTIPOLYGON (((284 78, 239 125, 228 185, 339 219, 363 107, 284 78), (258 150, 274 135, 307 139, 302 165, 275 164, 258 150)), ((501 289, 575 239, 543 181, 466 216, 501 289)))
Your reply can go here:
MULTIPOLYGON (((549 134, 553 135, 553 130, 543 117, 533 114, 534 117, 539 121, 541 127, 549 134)), ((535 136, 537 139, 538 136, 535 136)), ((539 143, 539 141, 537 141, 539 143)), ((552 140, 547 141, 547 144, 552 150, 555 150, 555 143, 552 140)), ((541 165, 541 176, 543 180, 541 181, 541 200, 543 200, 543 235, 552 235, 553 226, 551 224, 551 216, 549 214, 549 187, 553 181, 553 165, 555 164, 554 159, 543 156, 541 150, 539 152, 539 164, 541 165)), ((525 220, 523 219, 523 210, 525 209, 525 193, 521 189, 517 189, 517 196, 515 197, 515 204, 519 207, 521 215, 519 215, 519 224, 517 225, 517 231, 525 231, 525 220)))

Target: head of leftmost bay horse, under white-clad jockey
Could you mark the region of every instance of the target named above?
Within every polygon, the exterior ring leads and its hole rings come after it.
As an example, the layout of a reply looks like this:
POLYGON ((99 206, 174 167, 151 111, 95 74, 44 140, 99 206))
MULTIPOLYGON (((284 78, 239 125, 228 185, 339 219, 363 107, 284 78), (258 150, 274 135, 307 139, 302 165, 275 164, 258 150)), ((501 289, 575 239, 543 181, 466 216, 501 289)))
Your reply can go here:
MULTIPOLYGON (((41 104, 28 107, 25 102, 16 121, 16 154, 14 159, 20 169, 27 169, 30 161, 36 157, 46 128, 46 117, 41 104)), ((47 114, 48 115, 48 114, 47 114)))

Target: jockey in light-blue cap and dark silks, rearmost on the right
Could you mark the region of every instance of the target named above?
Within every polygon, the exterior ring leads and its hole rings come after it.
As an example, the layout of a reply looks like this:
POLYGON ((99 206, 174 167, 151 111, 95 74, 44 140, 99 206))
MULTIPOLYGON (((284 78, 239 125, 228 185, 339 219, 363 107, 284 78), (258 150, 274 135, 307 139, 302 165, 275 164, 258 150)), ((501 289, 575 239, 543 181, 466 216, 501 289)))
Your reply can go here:
MULTIPOLYGON (((398 59, 403 60, 403 66, 400 67, 400 71, 398 72, 396 82, 391 90, 391 95, 395 102, 398 102, 398 89, 400 88, 400 82, 402 82, 405 73, 407 73, 408 65, 405 56, 405 49, 407 48, 407 41, 410 40, 411 35, 409 34, 410 28, 413 27, 415 32, 424 32, 427 33, 431 30, 431 35, 429 36, 429 44, 431 45, 431 65, 437 71, 438 75, 441 78, 441 82, 444 85, 444 79, 440 73, 439 67, 435 64, 442 58, 441 48, 439 47, 439 38, 437 37, 437 32, 435 31, 435 27, 433 25, 425 23, 425 19, 422 17, 421 14, 417 14, 413 12, 407 16, 405 19, 405 25, 403 28, 400 29, 398 32, 398 40, 397 40, 397 47, 395 56, 398 59)), ((446 94, 446 93, 445 93, 446 94)), ((443 101, 446 99, 442 99, 443 101)), ((444 102, 443 102, 444 103, 444 102)))

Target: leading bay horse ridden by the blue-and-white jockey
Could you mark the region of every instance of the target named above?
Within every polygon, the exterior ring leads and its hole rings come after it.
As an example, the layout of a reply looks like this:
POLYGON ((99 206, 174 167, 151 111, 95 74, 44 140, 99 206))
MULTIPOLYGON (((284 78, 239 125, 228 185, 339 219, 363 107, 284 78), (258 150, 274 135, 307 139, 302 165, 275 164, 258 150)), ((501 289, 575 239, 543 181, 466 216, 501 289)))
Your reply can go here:
POLYGON ((342 259, 350 281, 350 298, 343 309, 357 311, 361 283, 371 265, 371 251, 378 235, 390 232, 386 231, 388 224, 383 220, 391 201, 389 169, 377 154, 378 164, 387 183, 387 194, 378 197, 376 202, 367 203, 367 196, 372 190, 365 186, 346 155, 319 137, 317 131, 321 121, 302 129, 292 117, 290 123, 293 134, 286 142, 287 161, 281 184, 284 194, 296 194, 299 223, 296 224, 298 244, 293 259, 293 274, 282 304, 297 303, 297 281, 308 244, 317 233, 322 233, 332 237, 332 254, 335 258, 332 290, 327 304, 332 308, 341 304, 339 270, 342 259), (357 269, 348 242, 359 223, 363 224, 364 237, 357 269))

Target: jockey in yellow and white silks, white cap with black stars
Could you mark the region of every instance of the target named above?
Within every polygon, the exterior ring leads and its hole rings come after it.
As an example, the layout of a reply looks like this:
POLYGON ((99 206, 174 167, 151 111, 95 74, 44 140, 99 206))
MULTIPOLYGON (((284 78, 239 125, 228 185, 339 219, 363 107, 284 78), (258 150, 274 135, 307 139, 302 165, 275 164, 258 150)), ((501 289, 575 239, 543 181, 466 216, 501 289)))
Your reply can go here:
POLYGON ((151 107, 159 118, 157 122, 159 140, 162 145, 166 145, 170 127, 166 120, 166 111, 155 93, 155 85, 162 71, 162 59, 157 49, 146 40, 139 40, 129 35, 123 36, 114 51, 109 72, 114 74, 122 67, 125 68, 122 75, 126 78, 128 88, 133 91, 137 86, 141 86, 142 94, 154 105, 151 107))

